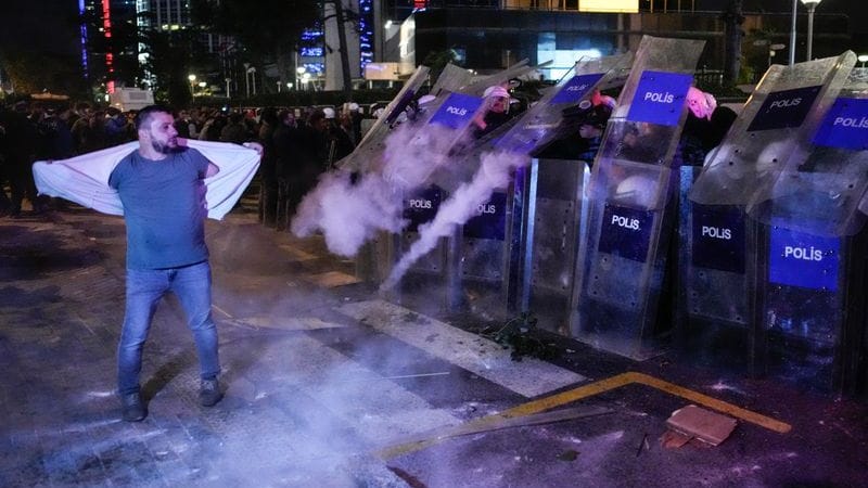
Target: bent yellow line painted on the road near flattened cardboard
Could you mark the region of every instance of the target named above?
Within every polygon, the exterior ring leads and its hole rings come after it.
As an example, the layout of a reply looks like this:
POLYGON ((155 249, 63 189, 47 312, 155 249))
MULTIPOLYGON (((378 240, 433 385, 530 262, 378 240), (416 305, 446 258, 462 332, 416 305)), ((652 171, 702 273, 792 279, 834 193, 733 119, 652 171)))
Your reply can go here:
POLYGON ((665 391, 669 395, 675 395, 677 397, 685 398, 694 403, 709 407, 711 409, 726 413, 730 416, 735 416, 737 419, 741 419, 745 422, 750 422, 752 424, 758 425, 769 431, 777 432, 778 434, 786 434, 792 429, 792 426, 788 423, 780 422, 778 420, 771 419, 766 415, 762 415, 756 412, 752 412, 746 409, 742 409, 740 407, 736 407, 732 403, 728 403, 726 401, 718 400, 707 395, 693 391, 692 389, 678 386, 674 383, 665 382, 663 380, 650 376, 648 374, 628 372, 618 374, 616 376, 608 377, 605 380, 601 380, 599 382, 595 382, 588 385, 579 386, 578 388, 573 388, 569 391, 559 393, 550 397, 545 397, 538 400, 528 401, 526 403, 522 403, 518 407, 506 410, 501 413, 497 413, 494 415, 486 415, 476 420, 472 420, 461 425, 448 427, 442 429, 438 434, 429 435, 427 437, 424 438, 417 438, 403 442, 397 446, 388 447, 379 451, 376 454, 384 460, 396 458, 398 455, 408 454, 410 452, 414 452, 427 448, 430 446, 439 444, 441 441, 448 439, 450 437, 456 437, 458 435, 462 435, 465 433, 476 432, 481 427, 493 425, 497 422, 502 421, 503 419, 511 419, 511 418, 539 413, 545 410, 552 409, 554 407, 559 407, 573 401, 578 401, 634 383, 650 386, 661 391, 665 391))

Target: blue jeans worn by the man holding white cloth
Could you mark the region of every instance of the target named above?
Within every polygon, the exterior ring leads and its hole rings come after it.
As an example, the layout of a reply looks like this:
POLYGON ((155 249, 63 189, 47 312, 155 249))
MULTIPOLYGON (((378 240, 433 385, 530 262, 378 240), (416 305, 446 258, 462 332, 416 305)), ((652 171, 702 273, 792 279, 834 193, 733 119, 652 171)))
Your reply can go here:
POLYGON ((217 328, 210 317, 208 261, 181 268, 127 269, 127 306, 117 346, 117 389, 120 395, 140 389, 142 349, 156 306, 166 292, 173 292, 187 312, 187 324, 193 332, 199 355, 200 376, 209 380, 220 372, 217 328))

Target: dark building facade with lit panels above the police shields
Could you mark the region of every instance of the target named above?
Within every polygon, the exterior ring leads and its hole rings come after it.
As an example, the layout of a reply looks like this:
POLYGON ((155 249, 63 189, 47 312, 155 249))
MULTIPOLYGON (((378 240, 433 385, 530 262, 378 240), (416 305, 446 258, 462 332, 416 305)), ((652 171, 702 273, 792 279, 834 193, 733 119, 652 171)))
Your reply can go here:
MULTIPOLYGON (((582 56, 635 49, 646 35, 704 40, 699 69, 719 72, 726 56, 726 12, 714 1, 385 0, 381 13, 394 18, 382 30, 379 61, 398 63, 400 76, 449 51, 480 73, 526 59, 548 63, 540 74, 558 79, 582 56)), ((786 64, 791 14, 745 10, 742 17, 744 76, 764 73, 771 62, 786 64)), ((799 33, 806 31, 806 17, 804 9, 797 12, 799 33)), ((814 57, 838 55, 851 42, 845 15, 817 15, 814 29, 814 57)), ((804 34, 795 49, 796 61, 804 61, 804 34)))

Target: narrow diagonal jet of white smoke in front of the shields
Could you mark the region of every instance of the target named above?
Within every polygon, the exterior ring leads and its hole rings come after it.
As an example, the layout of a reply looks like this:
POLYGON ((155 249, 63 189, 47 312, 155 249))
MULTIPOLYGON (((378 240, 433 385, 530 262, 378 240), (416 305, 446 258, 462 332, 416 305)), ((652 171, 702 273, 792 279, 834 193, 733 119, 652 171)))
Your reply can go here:
POLYGON ((456 226, 475 216, 477 207, 487 202, 496 189, 506 188, 512 170, 523 166, 527 160, 527 156, 522 154, 484 153, 473 179, 458 187, 455 193, 441 204, 434 220, 419 228, 419 240, 401 256, 380 290, 387 291, 394 287, 413 262, 437 245, 439 237, 449 235, 456 226))

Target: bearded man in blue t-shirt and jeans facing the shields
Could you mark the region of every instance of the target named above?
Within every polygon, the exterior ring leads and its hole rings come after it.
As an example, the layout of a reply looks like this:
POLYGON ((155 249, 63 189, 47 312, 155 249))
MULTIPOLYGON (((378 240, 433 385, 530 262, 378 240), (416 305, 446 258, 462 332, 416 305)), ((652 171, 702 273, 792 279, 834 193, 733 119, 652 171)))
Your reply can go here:
POLYGON ((117 349, 124 420, 148 415, 139 374, 151 320, 163 295, 174 293, 187 312, 199 355, 200 402, 222 398, 217 374, 217 329, 210 314, 210 266, 205 245, 204 179, 219 169, 194 149, 178 144, 171 112, 151 105, 136 116, 139 149, 112 171, 127 226, 127 292, 117 349))

